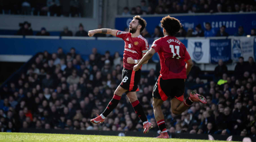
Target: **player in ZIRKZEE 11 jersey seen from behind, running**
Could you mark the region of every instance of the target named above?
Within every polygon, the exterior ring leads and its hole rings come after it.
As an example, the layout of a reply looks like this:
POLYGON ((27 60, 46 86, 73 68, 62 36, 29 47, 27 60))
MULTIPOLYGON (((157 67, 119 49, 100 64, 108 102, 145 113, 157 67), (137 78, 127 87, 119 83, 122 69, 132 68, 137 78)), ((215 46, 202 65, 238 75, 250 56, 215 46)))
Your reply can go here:
POLYGON ((206 100, 203 96, 191 91, 190 97, 184 101, 185 79, 191 70, 192 60, 185 45, 174 37, 179 32, 181 24, 179 20, 168 15, 162 19, 161 26, 165 36, 153 42, 151 49, 133 67, 133 70, 139 70, 140 66, 154 53, 159 54, 161 70, 153 90, 153 107, 157 125, 162 132, 157 138, 169 138, 161 109, 163 101, 170 96, 171 110, 175 115, 179 115, 193 102, 206 104, 206 100))

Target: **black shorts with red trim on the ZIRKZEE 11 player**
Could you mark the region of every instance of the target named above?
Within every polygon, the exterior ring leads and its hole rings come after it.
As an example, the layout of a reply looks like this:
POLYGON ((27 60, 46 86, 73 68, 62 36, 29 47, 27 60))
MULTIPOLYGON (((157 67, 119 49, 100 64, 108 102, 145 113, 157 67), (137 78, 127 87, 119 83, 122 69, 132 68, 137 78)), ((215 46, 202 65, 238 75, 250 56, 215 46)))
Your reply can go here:
POLYGON ((163 80, 161 75, 156 81, 156 85, 153 89, 153 97, 166 101, 170 96, 179 101, 184 101, 185 82, 184 79, 166 79, 163 80))

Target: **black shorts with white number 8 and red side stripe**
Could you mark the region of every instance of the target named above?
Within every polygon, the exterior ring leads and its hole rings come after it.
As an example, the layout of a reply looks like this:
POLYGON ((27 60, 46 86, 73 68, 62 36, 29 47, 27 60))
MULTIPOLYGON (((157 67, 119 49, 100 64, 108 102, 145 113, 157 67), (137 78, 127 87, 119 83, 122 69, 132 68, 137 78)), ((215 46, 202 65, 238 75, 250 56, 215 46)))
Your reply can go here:
POLYGON ((128 90, 126 94, 128 92, 139 91, 138 83, 140 82, 140 73, 140 69, 138 71, 133 71, 123 68, 122 82, 119 86, 121 86, 123 89, 128 90))

